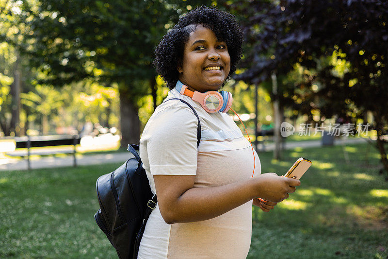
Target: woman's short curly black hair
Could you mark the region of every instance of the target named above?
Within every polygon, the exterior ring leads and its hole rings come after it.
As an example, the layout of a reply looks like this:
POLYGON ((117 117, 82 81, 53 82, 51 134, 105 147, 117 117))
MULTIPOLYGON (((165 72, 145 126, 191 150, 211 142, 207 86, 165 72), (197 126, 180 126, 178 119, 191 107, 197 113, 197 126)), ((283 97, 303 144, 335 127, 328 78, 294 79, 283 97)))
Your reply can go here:
MULTIPOLYGON (((230 75, 236 71, 236 65, 242 57, 243 32, 234 15, 213 6, 199 6, 181 17, 178 24, 163 36, 155 48, 153 62, 156 72, 162 76, 167 87, 173 89, 178 81, 178 64, 181 64, 185 44, 196 25, 209 28, 219 41, 225 41, 230 56, 230 75)), ((223 85, 224 86, 224 85, 223 85)))

